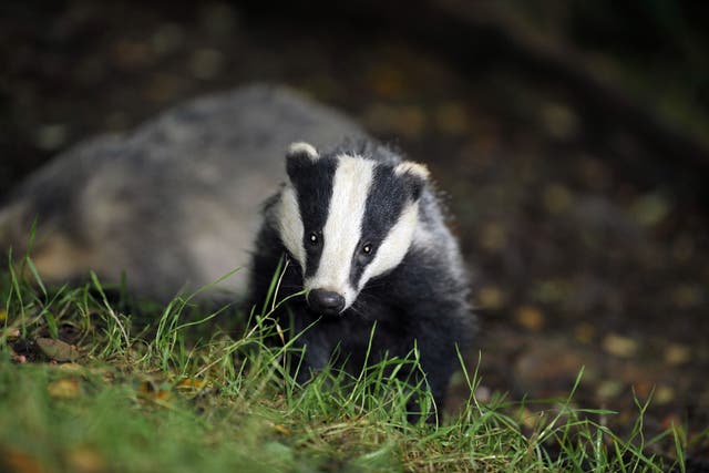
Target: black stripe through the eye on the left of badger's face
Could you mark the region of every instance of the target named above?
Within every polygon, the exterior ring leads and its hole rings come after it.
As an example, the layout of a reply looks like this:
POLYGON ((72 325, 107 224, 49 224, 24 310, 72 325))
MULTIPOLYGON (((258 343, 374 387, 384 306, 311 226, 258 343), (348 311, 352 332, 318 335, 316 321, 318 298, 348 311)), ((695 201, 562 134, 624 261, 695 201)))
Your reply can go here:
POLYGON ((327 222, 337 161, 320 158, 316 163, 306 162, 290 173, 296 188, 300 218, 302 219, 302 245, 306 249, 306 277, 316 274, 322 254, 322 227, 327 222), (310 234, 318 233, 318 245, 312 245, 310 234))

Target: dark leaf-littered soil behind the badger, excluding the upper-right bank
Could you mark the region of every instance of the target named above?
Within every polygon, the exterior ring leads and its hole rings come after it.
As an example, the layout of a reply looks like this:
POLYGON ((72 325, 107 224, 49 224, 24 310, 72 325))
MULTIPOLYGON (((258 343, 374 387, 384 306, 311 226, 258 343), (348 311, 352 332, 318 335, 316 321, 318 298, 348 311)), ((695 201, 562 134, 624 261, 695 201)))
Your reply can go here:
POLYGON ((460 68, 383 28, 234 3, 52 4, 0 14, 0 196, 82 138, 286 83, 432 168, 473 276, 480 399, 566 398, 584 367, 573 402, 612 426, 650 397, 650 433, 709 426, 706 189, 647 136, 490 51, 460 68))

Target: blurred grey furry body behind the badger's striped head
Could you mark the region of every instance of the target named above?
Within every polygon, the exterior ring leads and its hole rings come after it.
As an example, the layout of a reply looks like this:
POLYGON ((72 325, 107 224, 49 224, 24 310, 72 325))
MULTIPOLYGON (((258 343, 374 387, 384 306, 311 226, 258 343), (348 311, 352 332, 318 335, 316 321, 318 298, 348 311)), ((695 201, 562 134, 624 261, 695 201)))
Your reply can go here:
MULTIPOLYGON (((133 133, 76 145, 0 209, 0 250, 32 251, 50 282, 105 281, 164 301, 248 263, 260 203, 284 178, 288 144, 363 136, 349 119, 284 88, 195 100, 133 133)), ((247 271, 223 287, 243 294, 247 271)), ((214 295, 212 295, 214 296, 214 295)))

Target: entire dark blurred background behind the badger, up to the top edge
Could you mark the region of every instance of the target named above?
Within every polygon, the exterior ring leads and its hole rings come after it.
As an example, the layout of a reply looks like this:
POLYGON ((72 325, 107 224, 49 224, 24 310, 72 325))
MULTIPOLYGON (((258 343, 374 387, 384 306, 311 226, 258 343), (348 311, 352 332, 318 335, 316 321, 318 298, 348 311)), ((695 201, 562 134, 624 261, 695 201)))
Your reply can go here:
POLYGON ((709 3, 330 3, 3 2, 0 199, 81 140, 285 83, 431 166, 479 399, 565 398, 585 367, 574 403, 613 426, 651 397, 650 433, 706 430, 709 3))

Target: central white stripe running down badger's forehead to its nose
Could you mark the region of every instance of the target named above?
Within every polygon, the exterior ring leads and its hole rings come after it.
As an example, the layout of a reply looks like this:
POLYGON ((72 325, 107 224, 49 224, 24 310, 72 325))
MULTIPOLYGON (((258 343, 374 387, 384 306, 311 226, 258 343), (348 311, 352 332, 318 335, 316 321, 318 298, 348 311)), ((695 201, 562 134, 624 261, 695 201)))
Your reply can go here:
POLYGON ((349 307, 357 291, 349 281, 354 248, 359 243, 367 195, 372 183, 374 162, 338 156, 328 219, 322 230, 325 246, 316 275, 305 288, 333 290, 345 297, 349 307))

